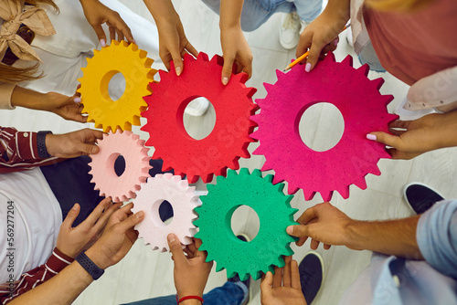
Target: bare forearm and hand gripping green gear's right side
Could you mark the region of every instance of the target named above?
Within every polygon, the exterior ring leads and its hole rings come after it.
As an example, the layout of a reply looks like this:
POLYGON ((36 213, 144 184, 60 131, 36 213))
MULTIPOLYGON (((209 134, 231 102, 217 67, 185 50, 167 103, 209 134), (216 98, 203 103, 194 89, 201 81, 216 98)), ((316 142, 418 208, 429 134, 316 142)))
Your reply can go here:
POLYGON ((330 203, 314 205, 298 218, 300 226, 289 226, 287 232, 300 237, 303 246, 308 237, 311 247, 332 245, 356 250, 370 250, 404 258, 423 259, 416 239, 420 216, 386 221, 359 221, 346 216, 330 203))

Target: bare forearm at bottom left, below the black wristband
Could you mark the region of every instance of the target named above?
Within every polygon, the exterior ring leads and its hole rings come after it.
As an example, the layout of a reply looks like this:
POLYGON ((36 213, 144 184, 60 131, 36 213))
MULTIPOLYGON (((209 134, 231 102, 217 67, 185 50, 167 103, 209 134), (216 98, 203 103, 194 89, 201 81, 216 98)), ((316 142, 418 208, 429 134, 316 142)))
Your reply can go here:
POLYGON ((9 304, 71 304, 92 281, 90 274, 74 261, 54 278, 21 295, 9 304))

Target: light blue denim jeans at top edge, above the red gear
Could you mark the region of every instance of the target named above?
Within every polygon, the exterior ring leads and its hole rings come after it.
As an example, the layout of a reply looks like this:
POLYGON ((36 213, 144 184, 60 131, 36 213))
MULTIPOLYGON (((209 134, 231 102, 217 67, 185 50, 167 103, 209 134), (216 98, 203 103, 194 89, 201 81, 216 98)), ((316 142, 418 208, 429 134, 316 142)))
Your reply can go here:
MULTIPOLYGON (((220 0, 202 0, 219 14, 220 0)), ((297 12, 303 21, 310 22, 319 16, 322 0, 245 0, 241 13, 241 28, 251 32, 263 25, 274 13, 297 12)))

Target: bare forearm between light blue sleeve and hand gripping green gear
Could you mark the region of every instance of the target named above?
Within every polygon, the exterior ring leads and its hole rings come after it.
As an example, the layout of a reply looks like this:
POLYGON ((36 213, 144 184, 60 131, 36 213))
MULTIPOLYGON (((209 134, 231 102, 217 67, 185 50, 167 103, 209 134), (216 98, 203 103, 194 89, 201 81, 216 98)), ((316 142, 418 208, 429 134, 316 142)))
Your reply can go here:
POLYGON ((416 238, 420 216, 386 221, 352 221, 345 246, 403 258, 423 259, 416 238))

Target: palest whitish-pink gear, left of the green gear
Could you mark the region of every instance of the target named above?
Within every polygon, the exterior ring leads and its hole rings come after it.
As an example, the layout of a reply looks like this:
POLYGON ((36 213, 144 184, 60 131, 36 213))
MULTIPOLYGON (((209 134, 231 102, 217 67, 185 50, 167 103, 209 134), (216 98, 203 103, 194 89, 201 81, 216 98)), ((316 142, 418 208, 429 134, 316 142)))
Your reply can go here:
POLYGON ((194 208, 201 205, 195 186, 189 186, 187 180, 173 174, 156 174, 149 177, 146 184, 133 200, 133 213, 143 211, 143 221, 135 226, 144 244, 150 244, 153 250, 169 251, 166 237, 174 233, 183 245, 192 243, 197 233, 192 221, 197 218, 194 208), (160 219, 159 207, 164 201, 173 207, 173 220, 169 225, 160 219))

